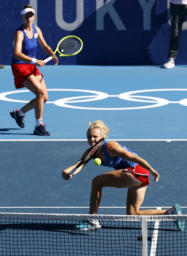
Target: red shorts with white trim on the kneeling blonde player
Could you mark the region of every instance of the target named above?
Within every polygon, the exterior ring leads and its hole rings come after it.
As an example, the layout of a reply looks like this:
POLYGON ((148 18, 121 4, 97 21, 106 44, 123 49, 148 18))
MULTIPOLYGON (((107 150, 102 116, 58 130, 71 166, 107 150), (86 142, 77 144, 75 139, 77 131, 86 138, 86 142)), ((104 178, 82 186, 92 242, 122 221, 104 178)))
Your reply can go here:
POLYGON ((130 172, 135 178, 137 178, 139 181, 141 181, 142 184, 140 186, 151 184, 150 172, 139 165, 127 167, 122 170, 124 170, 126 172, 130 172))

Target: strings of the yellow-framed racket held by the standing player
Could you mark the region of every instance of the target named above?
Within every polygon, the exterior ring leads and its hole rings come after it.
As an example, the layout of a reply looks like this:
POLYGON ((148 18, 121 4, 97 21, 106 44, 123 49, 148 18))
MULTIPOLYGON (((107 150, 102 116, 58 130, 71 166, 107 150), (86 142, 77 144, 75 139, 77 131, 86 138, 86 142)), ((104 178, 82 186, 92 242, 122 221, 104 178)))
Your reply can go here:
POLYGON ((78 52, 81 48, 81 42, 74 37, 64 39, 58 46, 59 52, 66 55, 71 55, 78 52))

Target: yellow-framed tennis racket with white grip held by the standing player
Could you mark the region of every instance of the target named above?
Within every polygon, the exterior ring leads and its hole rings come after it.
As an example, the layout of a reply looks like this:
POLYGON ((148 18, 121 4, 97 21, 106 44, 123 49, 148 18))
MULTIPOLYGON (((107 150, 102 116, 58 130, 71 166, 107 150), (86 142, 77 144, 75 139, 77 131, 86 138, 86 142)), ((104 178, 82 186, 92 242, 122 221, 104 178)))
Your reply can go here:
POLYGON ((56 57, 76 55, 82 50, 82 48, 83 42, 78 36, 68 35, 59 41, 54 54, 45 59, 44 62, 47 63, 56 57))

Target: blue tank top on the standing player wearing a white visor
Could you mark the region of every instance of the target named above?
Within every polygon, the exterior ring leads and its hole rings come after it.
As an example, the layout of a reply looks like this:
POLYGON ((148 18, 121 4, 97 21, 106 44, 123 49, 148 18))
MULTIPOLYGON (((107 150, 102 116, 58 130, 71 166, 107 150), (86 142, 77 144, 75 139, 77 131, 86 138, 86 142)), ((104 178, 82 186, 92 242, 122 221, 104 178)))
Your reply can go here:
MULTIPOLYGON (((38 44, 38 34, 36 31, 36 27, 34 25, 32 25, 32 29, 33 29, 33 36, 31 39, 29 39, 24 31, 24 28, 22 26, 20 26, 18 29, 16 29, 16 31, 22 31, 23 35, 24 35, 24 39, 23 39, 23 44, 22 44, 22 53, 32 57, 32 58, 36 58, 36 49, 37 49, 37 44, 38 44)), ((14 44, 14 42, 13 42, 14 44)), ((23 64, 23 63, 27 63, 27 64, 31 64, 28 62, 23 62, 20 60, 17 60, 14 58, 14 56, 12 56, 12 62, 13 63, 17 63, 17 64, 23 64)))

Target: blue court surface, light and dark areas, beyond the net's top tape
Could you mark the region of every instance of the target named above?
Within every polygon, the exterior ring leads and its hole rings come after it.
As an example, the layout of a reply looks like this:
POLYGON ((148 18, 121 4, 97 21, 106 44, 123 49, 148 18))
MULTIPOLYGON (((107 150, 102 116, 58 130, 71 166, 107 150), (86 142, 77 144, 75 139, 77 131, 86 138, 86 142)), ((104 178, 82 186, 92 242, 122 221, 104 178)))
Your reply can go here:
MULTIPOLYGON (((158 183, 151 177, 142 207, 168 209, 177 202, 187 214, 186 66, 165 70, 48 65, 41 72, 49 91, 43 112, 51 133, 47 138, 33 134, 34 111, 26 114, 24 129, 11 118, 10 110, 22 107, 34 95, 14 89, 10 66, 0 69, 0 212, 87 214, 92 179, 108 168, 91 161, 70 181, 63 180, 61 172, 89 147, 88 122, 102 119, 112 130, 109 139, 137 152, 160 174, 158 183)), ((127 189, 103 188, 98 214, 126 214, 126 193, 127 189)), ((67 227, 58 228, 58 234, 72 236, 67 227)), ((52 226, 49 229, 52 232, 52 226)))

